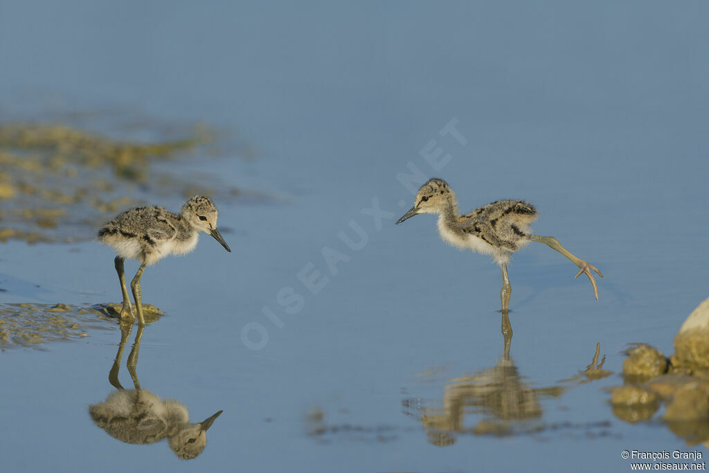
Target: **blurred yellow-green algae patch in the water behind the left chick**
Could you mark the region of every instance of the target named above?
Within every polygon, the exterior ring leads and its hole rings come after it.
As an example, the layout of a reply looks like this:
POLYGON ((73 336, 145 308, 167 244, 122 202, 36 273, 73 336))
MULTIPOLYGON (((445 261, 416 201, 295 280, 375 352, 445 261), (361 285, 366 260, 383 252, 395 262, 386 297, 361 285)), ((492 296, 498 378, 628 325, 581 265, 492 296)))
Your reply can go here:
MULTIPOLYGON (((0 242, 70 243, 94 237, 96 226, 131 205, 138 184, 156 184, 152 162, 194 152, 211 140, 206 130, 187 138, 138 143, 112 140, 68 126, 0 126, 0 242)), ((178 184, 179 193, 184 184, 178 184)))

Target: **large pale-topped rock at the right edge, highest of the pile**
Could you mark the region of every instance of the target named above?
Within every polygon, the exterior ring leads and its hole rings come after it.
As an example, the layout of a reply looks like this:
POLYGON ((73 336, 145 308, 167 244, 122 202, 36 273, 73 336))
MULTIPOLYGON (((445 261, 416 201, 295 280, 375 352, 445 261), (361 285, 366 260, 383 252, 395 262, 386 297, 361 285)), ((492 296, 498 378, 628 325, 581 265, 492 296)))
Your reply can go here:
POLYGON ((682 324, 674 338, 672 365, 694 373, 709 373, 709 299, 705 299, 682 324))

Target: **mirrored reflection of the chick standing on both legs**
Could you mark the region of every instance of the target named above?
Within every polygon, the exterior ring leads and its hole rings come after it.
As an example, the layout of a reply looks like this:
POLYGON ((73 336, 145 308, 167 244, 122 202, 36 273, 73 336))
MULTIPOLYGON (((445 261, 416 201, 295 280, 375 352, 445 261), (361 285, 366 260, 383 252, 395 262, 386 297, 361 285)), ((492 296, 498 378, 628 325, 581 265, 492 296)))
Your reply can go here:
POLYGON ((132 323, 121 323, 121 343, 118 345, 116 360, 108 373, 108 381, 118 391, 108 395, 106 401, 89 406, 89 414, 96 425, 121 442, 147 444, 167 438, 177 457, 190 460, 204 450, 207 443, 206 432, 222 411, 202 422, 190 423, 189 412, 184 404, 174 399, 160 399, 150 391, 140 388, 135 369, 144 328, 143 325, 138 326, 135 343, 126 363, 135 389, 123 389, 118 381, 123 348, 133 329, 132 323))

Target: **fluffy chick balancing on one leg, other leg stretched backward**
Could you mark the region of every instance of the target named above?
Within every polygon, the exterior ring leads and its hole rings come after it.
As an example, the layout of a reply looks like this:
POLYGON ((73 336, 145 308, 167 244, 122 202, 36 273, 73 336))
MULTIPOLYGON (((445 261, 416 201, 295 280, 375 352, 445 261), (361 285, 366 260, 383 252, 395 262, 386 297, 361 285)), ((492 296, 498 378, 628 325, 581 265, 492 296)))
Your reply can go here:
POLYGON ((396 225, 419 213, 438 215, 438 232, 451 245, 491 255, 502 268, 500 299, 503 312, 508 311, 512 287, 507 275, 507 263, 512 253, 536 241, 544 243, 569 258, 579 267, 575 277, 586 274, 598 300, 598 286, 593 272, 603 277, 596 267, 571 254, 554 237, 532 235, 530 224, 537 220, 537 209, 525 201, 496 201, 460 215, 453 190, 442 179, 430 179, 416 194, 415 205, 396 221, 396 225))

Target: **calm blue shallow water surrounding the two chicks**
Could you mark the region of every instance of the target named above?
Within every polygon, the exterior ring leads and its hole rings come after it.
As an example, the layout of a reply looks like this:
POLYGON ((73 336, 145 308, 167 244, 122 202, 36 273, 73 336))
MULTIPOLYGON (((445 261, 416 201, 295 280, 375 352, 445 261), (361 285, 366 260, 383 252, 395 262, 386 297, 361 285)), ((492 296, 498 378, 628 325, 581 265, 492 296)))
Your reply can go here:
MULTIPOLYGON (((165 315, 145 328, 135 372, 193 422, 224 411, 203 454, 181 462, 165 442, 128 445, 92 423, 121 342, 99 320, 75 340, 0 352, 4 469, 627 471, 623 450, 705 452, 660 421, 615 418, 604 388, 622 382, 628 343, 671 354, 707 296, 706 13, 6 2, 3 121, 117 113, 144 140, 160 135, 145 116, 206 122, 225 131, 212 157, 157 169, 253 194, 217 201, 233 253, 204 237, 143 277, 165 315), (450 123, 458 135, 441 133, 450 123), (435 148, 434 167, 421 153, 435 148), (599 301, 562 256, 518 252, 503 360, 498 267, 443 244, 430 216, 393 226, 413 201, 397 174, 412 166, 447 179, 464 211, 531 201, 537 233, 601 269, 599 301), (586 382, 597 343, 612 374, 586 382), (481 392, 522 392, 531 408, 510 415, 481 392), (438 422, 432 435, 422 417, 438 422)), ((158 194, 125 190, 174 210, 184 200, 158 194)), ((118 302, 112 258, 92 241, 10 240, 0 302, 118 302)))

